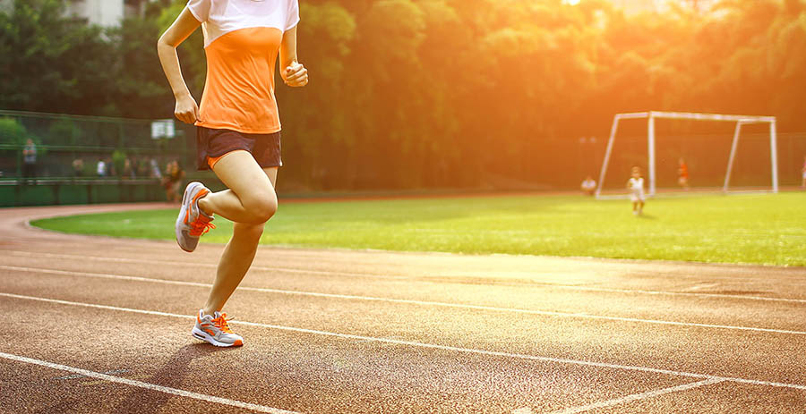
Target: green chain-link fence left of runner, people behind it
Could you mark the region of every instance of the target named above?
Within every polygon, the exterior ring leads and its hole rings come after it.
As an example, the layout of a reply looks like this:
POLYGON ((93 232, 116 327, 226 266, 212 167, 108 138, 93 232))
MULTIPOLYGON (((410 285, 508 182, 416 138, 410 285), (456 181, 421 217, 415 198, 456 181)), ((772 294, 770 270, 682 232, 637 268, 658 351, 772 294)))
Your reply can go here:
POLYGON ((173 121, 0 111, 0 206, 163 200, 193 139, 173 121))

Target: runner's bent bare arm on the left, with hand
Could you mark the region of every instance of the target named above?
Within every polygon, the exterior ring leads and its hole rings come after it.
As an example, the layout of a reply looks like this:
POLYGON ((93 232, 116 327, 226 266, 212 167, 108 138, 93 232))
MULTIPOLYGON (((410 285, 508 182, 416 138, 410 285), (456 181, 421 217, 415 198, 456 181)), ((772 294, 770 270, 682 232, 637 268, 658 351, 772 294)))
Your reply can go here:
POLYGON ((187 89, 187 84, 182 77, 179 56, 176 55, 176 46, 179 46, 200 25, 201 22, 197 21, 193 17, 193 13, 185 7, 174 21, 174 24, 157 41, 159 63, 162 63, 162 70, 165 72, 168 83, 171 84, 174 97, 176 97, 174 115, 183 123, 195 123, 199 119, 199 106, 196 105, 196 101, 191 96, 190 90, 187 89))

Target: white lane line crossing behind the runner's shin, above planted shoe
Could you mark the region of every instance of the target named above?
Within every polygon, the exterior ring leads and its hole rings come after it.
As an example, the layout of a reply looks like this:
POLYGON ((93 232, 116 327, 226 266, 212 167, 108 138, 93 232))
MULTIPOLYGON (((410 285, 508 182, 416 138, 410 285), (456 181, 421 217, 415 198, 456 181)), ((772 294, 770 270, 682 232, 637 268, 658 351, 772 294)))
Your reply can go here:
MULTIPOLYGON (((109 275, 109 274, 97 274, 97 273, 86 273, 86 272, 72 272, 67 270, 53 270, 53 269, 40 269, 35 267, 21 267, 21 266, 4 266, 0 265, 0 269, 5 270, 13 270, 18 272, 31 272, 31 273, 39 273, 39 274, 47 274, 47 275, 69 275, 69 276, 78 276, 78 277, 94 277, 100 279, 116 279, 116 280, 126 280, 126 281, 135 281, 135 282, 146 282, 146 283, 165 283, 165 284, 175 284, 175 285, 183 285, 183 286, 193 286, 193 287, 204 287, 209 288, 212 285, 209 283, 198 283, 198 282, 183 282, 183 281, 174 281, 174 280, 166 280, 166 279, 155 279, 150 277, 140 277, 140 276, 126 276, 126 275, 109 275)), ((433 307, 440 307, 440 308, 460 308, 460 309, 473 309, 473 310, 483 310, 483 311, 490 311, 490 312, 503 312, 503 313, 518 313, 524 315, 540 315, 544 317, 572 317, 577 319, 596 319, 596 320, 608 320, 608 321, 616 321, 616 322, 630 322, 630 323, 638 323, 638 324, 654 324, 654 325, 672 325, 672 326, 688 326, 688 327, 699 327, 699 328, 708 328, 708 329, 727 329, 733 331, 749 331, 749 332, 763 332, 767 334, 793 334, 793 335, 806 335, 804 331, 791 331, 786 329, 772 329, 772 328, 760 328, 760 327, 753 327, 753 326, 738 326, 738 325, 713 325, 713 324, 697 324, 692 322, 678 322, 678 321, 667 321, 667 320, 660 320, 660 319, 640 319, 636 317, 609 317, 604 315, 593 315, 581 312, 557 312, 552 310, 536 310, 536 309, 521 309, 521 308, 498 308, 492 306, 482 306, 482 305, 467 305, 462 303, 447 303, 447 302, 435 302, 429 300, 406 300, 406 299, 391 299, 391 298, 377 298, 373 296, 356 296, 356 295, 340 295, 335 293, 320 293, 314 291, 283 291, 280 289, 269 289, 269 288, 254 288, 249 286, 238 286, 239 291, 260 291, 264 293, 279 293, 285 295, 297 295, 297 296, 312 296, 318 298, 330 298, 330 299, 340 299, 340 300, 364 300, 364 301, 377 301, 377 302, 387 302, 387 303, 401 303, 406 305, 416 305, 416 306, 433 306, 433 307)))

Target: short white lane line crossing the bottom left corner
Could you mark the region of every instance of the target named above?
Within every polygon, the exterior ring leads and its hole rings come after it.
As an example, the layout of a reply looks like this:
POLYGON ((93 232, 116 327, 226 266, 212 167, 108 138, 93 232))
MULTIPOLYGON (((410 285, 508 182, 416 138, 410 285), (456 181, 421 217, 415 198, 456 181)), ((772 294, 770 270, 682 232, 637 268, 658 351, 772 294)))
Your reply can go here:
POLYGON ((167 386, 144 383, 142 381, 135 381, 133 379, 122 378, 120 376, 109 376, 107 374, 101 374, 99 372, 89 371, 87 369, 74 368, 74 367, 69 367, 69 366, 61 365, 61 364, 54 364, 53 362, 47 362, 47 361, 43 361, 43 360, 40 360, 40 359, 32 359, 32 358, 27 358, 27 357, 21 357, 21 356, 18 356, 18 355, 13 355, 13 354, 5 353, 5 352, 0 352, 0 358, 11 359, 13 361, 24 362, 24 363, 27 363, 27 364, 39 365, 41 367, 59 369, 59 370, 62 370, 62 371, 72 372, 74 374, 78 374, 78 375, 81 375, 81 376, 91 376, 93 378, 102 379, 102 380, 109 381, 109 382, 112 382, 112 383, 136 386, 136 387, 144 388, 144 389, 150 390, 150 391, 158 391, 159 393, 168 393, 168 394, 171 394, 171 395, 178 395, 180 397, 193 398, 195 400, 201 400, 201 401, 207 401, 207 402, 216 402, 216 403, 219 403, 219 404, 229 405, 229 406, 237 407, 237 408, 244 409, 244 410, 253 410, 253 411, 259 411, 259 412, 269 412, 271 414, 297 414, 295 411, 279 410, 279 409, 267 407, 265 405, 252 404, 252 403, 244 402, 244 401, 229 400, 227 398, 216 397, 216 396, 213 396, 213 395, 207 395, 207 394, 203 394, 203 393, 193 393, 193 392, 190 392, 190 391, 179 390, 179 389, 170 388, 170 387, 167 387, 167 386))

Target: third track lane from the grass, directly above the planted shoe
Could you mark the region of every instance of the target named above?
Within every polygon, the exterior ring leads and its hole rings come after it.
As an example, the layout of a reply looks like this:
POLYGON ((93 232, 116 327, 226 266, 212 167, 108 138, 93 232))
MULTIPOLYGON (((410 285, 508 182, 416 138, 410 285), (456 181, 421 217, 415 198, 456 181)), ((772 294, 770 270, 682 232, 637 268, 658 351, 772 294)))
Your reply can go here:
MULTIPOLYGON (((39 275, 0 281, 7 293, 160 310, 191 317, 207 288, 101 280, 82 289, 81 278, 39 275), (137 292, 122 294, 122 292, 137 292), (147 299, 148 298, 148 299, 147 299), (144 304, 148 304, 144 307, 144 304)), ((230 315, 269 325, 395 338, 462 348, 803 384, 806 358, 790 344, 802 335, 730 331, 698 326, 501 314, 330 298, 236 291, 230 315)), ((236 322, 237 324, 237 322, 236 322)), ((247 338, 248 340, 248 338, 247 338)))

